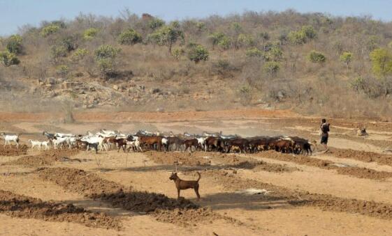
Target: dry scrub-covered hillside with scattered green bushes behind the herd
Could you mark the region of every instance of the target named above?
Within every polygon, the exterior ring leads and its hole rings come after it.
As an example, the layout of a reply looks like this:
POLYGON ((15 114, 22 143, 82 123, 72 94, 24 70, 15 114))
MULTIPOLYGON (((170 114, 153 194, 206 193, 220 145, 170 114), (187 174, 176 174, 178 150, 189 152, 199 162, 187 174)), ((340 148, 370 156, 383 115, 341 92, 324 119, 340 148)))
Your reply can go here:
POLYGON ((81 14, 1 38, 2 106, 391 115, 391 22, 293 10, 173 22, 120 15, 81 14))

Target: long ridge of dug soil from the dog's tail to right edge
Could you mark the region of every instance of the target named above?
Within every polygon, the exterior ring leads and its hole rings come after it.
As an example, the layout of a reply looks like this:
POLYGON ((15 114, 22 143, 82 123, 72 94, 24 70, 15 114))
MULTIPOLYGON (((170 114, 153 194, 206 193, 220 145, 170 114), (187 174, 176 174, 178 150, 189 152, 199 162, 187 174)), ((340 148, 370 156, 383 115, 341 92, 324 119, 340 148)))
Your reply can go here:
MULTIPOLYGON (((194 172, 187 171, 184 174, 194 175, 194 172)), ((354 198, 340 198, 329 194, 311 194, 307 191, 294 191, 274 184, 239 178, 236 173, 235 170, 205 170, 201 172, 204 178, 210 178, 215 184, 222 185, 228 191, 266 189, 269 191, 268 194, 257 195, 257 198, 242 195, 242 198, 248 200, 248 204, 251 204, 252 200, 266 203, 268 209, 274 208, 275 203, 282 204, 282 201, 284 201, 291 207, 310 206, 332 212, 348 212, 379 219, 392 219, 392 205, 390 204, 354 198)), ((205 198, 209 198, 209 196, 205 196, 205 198)))

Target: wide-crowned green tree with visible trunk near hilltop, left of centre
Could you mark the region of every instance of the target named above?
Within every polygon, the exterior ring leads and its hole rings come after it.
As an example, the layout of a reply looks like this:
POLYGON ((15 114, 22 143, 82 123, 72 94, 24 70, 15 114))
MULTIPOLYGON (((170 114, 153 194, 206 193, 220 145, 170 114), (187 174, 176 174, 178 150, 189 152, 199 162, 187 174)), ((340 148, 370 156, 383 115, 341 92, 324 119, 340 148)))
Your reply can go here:
POLYGON ((184 39, 184 33, 174 26, 164 26, 155 33, 147 36, 150 42, 157 45, 167 45, 169 53, 171 54, 171 47, 179 38, 184 39))

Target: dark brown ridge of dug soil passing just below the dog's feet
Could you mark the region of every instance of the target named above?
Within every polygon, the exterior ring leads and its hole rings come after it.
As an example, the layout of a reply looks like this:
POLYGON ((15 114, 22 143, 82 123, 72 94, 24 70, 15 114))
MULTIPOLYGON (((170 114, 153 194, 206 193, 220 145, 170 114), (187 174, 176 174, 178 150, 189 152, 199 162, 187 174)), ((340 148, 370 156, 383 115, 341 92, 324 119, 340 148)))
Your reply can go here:
POLYGON ((189 223, 224 220, 240 223, 230 217, 212 212, 208 207, 200 207, 190 200, 168 198, 164 194, 124 189, 124 186, 103 180, 95 173, 87 173, 76 168, 38 168, 38 176, 55 182, 68 191, 74 191, 87 198, 102 200, 113 207, 131 212, 151 214, 157 221, 189 226, 189 223))

